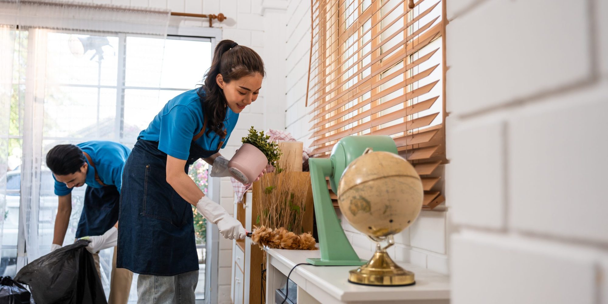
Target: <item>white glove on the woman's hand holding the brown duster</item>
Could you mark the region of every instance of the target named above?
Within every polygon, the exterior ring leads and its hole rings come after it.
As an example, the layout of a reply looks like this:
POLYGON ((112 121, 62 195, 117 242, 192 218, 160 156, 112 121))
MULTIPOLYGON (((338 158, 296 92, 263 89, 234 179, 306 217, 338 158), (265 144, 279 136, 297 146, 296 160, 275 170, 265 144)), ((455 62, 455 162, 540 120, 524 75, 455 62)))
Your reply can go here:
POLYGON ((219 233, 230 240, 245 238, 245 229, 241 222, 230 216, 222 206, 203 196, 196 204, 196 210, 204 216, 207 221, 217 224, 219 233))

